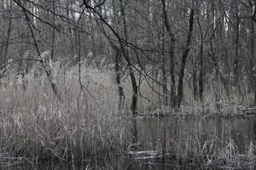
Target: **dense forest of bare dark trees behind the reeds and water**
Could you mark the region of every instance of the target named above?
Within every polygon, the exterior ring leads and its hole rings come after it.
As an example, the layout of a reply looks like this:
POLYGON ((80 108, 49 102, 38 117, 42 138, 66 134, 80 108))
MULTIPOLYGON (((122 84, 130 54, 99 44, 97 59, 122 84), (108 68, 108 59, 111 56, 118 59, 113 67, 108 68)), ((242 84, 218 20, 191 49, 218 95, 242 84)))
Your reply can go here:
POLYGON ((3 0, 1 81, 16 74, 26 88, 39 62, 61 99, 49 65, 58 63, 64 71, 79 67, 81 88, 89 80, 83 66, 111 71, 119 109, 131 103, 134 114, 146 105, 254 104, 254 3, 3 0))

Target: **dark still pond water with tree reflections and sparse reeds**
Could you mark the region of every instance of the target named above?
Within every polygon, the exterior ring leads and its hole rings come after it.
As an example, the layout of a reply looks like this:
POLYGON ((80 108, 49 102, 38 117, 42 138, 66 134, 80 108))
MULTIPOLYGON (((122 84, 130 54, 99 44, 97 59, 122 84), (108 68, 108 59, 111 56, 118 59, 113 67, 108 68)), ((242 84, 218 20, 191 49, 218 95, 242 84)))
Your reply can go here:
POLYGON ((125 126, 128 151, 108 161, 46 161, 2 169, 256 169, 255 117, 138 117, 125 126))

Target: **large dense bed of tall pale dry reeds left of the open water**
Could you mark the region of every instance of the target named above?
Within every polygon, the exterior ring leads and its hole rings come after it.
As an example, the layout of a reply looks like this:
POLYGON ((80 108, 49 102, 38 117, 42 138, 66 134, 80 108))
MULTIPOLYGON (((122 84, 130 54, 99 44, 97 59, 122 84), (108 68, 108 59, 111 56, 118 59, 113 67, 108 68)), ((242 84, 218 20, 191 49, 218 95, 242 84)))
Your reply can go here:
POLYGON ((78 66, 55 66, 54 81, 61 101, 48 79, 33 69, 21 80, 14 75, 0 88, 0 153, 30 158, 89 160, 124 146, 125 114, 116 110, 118 95, 111 73, 78 66), (65 73, 64 73, 65 71, 65 73), (26 89, 23 86, 25 82, 26 89))

